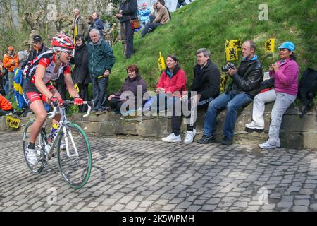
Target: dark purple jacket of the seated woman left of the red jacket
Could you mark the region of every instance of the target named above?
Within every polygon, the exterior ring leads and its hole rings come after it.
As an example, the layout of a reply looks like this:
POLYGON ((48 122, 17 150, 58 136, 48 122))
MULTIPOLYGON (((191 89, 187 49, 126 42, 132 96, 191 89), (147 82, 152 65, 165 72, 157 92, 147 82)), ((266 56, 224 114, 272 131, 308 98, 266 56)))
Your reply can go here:
MULTIPOLYGON (((143 78, 141 78, 141 76, 137 75, 135 78, 125 78, 125 82, 123 83, 122 88, 115 93, 115 97, 117 99, 120 99, 121 94, 124 91, 131 91, 134 95, 135 95, 135 100, 137 100, 137 85, 141 85, 142 86, 142 97, 144 95, 144 93, 147 92, 147 83, 145 83, 145 81, 143 80, 143 78)), ((140 98, 142 98, 140 97, 140 98)), ((125 102, 126 100, 120 100, 125 102)))

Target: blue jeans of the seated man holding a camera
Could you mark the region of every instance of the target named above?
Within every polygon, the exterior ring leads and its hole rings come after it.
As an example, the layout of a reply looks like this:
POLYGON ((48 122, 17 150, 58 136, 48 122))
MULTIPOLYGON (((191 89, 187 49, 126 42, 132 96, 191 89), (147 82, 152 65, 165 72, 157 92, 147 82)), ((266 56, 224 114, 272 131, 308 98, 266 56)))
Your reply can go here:
POLYGON ((221 111, 226 109, 223 133, 227 138, 232 138, 235 131, 235 121, 237 121, 237 109, 248 105, 252 100, 252 97, 246 93, 235 94, 231 91, 216 97, 208 105, 203 127, 204 135, 211 136, 215 133, 216 118, 221 111))

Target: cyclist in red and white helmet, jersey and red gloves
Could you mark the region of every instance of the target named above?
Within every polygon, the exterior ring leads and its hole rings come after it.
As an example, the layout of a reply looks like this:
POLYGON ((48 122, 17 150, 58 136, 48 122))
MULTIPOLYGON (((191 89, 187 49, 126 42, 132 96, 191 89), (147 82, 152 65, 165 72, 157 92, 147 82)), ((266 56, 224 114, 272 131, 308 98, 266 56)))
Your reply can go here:
MULTIPOLYGON (((61 95, 49 81, 58 79, 63 73, 68 92, 70 96, 74 97, 75 105, 82 105, 83 103, 82 98, 80 98, 74 88, 70 66, 68 65, 73 55, 75 44, 66 35, 56 35, 51 41, 51 46, 52 48, 47 52, 30 61, 23 71, 26 78, 23 83, 23 97, 32 112, 35 113, 35 121, 30 132, 30 143, 27 146, 27 159, 33 165, 37 164, 35 141, 47 115, 42 101, 50 104, 58 102, 59 105, 63 105, 61 95)), ((60 120, 61 115, 56 114, 52 124, 58 124, 60 120)))

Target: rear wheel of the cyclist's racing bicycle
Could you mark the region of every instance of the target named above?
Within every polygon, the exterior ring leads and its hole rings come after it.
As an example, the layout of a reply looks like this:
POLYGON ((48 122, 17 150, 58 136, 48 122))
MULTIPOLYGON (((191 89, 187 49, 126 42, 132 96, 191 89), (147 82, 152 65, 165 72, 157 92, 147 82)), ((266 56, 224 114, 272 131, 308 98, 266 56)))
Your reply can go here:
POLYGON ((24 154, 24 159, 27 164, 27 167, 29 167, 29 169, 34 174, 40 174, 45 166, 44 153, 42 150, 42 147, 43 147, 42 144, 44 141, 42 141, 41 134, 39 134, 37 141, 35 141, 35 151, 37 152, 37 164, 32 164, 28 160, 28 157, 27 157, 27 145, 29 145, 29 142, 30 142, 30 133, 31 133, 31 128, 33 123, 34 121, 27 122, 25 126, 25 130, 23 132, 23 154, 24 154))

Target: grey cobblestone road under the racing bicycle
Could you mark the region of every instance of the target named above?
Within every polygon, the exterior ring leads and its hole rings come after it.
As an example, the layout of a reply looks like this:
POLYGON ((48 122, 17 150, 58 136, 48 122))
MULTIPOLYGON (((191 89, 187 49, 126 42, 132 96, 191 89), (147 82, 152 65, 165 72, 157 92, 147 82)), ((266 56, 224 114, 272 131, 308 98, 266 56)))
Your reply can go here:
POLYGON ((75 191, 56 159, 32 174, 21 140, 0 133, 0 211, 317 211, 316 150, 89 137, 92 175, 75 191))

